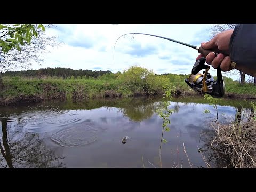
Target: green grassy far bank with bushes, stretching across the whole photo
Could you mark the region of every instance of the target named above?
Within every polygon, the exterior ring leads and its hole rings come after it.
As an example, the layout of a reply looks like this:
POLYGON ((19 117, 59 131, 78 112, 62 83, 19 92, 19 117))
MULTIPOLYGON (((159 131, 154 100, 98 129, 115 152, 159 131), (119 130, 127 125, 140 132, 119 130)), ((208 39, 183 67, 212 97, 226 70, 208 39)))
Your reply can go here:
MULTIPOLYGON (((4 89, 0 90, 0 104, 7 105, 17 101, 38 101, 48 99, 83 99, 103 97, 133 97, 137 95, 162 95, 164 86, 172 83, 177 93, 197 95, 184 82, 186 75, 155 75, 142 67, 131 67, 123 73, 94 78, 54 78, 43 79, 4 76, 4 89)), ((239 85, 225 77, 226 97, 256 98, 256 87, 239 85)))

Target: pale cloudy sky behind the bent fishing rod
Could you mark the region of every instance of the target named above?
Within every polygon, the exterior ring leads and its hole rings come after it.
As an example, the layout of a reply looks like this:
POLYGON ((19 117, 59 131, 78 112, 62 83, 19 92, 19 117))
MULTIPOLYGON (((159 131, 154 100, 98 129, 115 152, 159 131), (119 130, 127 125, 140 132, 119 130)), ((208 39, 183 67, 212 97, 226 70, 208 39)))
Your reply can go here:
MULTIPOLYGON (((201 42, 209 41, 212 24, 55 26, 46 29, 45 33, 49 36, 58 36, 61 44, 47 50, 48 53, 43 55, 45 62, 41 65, 33 65, 33 69, 65 67, 122 73, 130 66, 137 65, 152 69, 156 74, 190 74, 196 62, 197 50, 148 35, 130 34, 119 37, 127 33, 147 33, 199 46, 201 42)), ((209 72, 216 75, 216 70, 212 67, 209 72)), ((236 76, 231 78, 236 79, 236 76)))

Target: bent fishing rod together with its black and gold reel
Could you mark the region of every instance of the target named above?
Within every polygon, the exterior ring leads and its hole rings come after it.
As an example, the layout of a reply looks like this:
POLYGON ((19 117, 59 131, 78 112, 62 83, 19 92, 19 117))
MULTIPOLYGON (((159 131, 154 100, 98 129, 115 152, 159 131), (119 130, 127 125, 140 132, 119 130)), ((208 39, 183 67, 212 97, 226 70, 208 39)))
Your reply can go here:
MULTIPOLYGON (((215 98, 221 98, 225 95, 225 83, 223 81, 223 77, 221 74, 221 69, 220 66, 217 68, 217 79, 214 81, 214 78, 210 73, 208 73, 210 66, 205 65, 205 57, 213 52, 215 55, 218 55, 218 53, 214 52, 213 50, 205 50, 201 46, 194 46, 190 45, 188 43, 183 43, 180 41, 177 41, 175 39, 167 38, 167 37, 162 37, 158 35, 152 35, 152 34, 146 34, 146 33, 127 33, 124 35, 121 35, 120 37, 117 38, 116 42, 118 41, 119 38, 125 35, 133 34, 132 39, 134 38, 135 34, 140 34, 140 35, 149 35, 149 36, 154 36, 154 37, 159 37, 163 38, 175 43, 179 43, 188 47, 191 47, 195 50, 198 51, 198 53, 201 53, 204 57, 199 58, 191 71, 191 74, 189 75, 188 78, 185 79, 185 82, 197 93, 199 94, 210 94, 211 96, 215 98), (204 73, 201 74, 199 71, 202 69, 205 69, 204 73)), ((116 46, 115 42, 115 46, 116 46)), ((114 54, 115 54, 115 46, 114 46, 114 54)), ((114 55, 113 55, 113 60, 114 60, 114 55)), ((114 60, 115 62, 115 60, 114 60)), ((237 66, 237 65, 236 65, 237 66)), ((237 68, 238 69, 238 68, 237 68)), ((239 70, 239 69, 238 69, 239 70)))

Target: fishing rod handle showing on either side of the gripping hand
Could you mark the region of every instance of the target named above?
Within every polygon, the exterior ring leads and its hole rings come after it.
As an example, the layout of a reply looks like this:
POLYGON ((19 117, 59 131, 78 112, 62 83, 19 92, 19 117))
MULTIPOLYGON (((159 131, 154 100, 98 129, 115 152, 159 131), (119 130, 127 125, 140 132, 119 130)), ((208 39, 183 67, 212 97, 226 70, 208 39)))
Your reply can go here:
MULTIPOLYGON (((213 51, 211 50, 206 50, 206 49, 203 49, 202 47, 199 47, 198 48, 198 53, 204 55, 204 57, 206 57, 209 53, 211 53, 213 51)), ((215 52, 214 52, 215 53, 215 52)), ((215 53, 215 55, 218 55, 218 53, 215 53)), ((235 63, 235 62, 232 62, 231 63, 231 67, 233 69, 237 69, 239 71, 242 71, 243 73, 247 74, 247 75, 250 75, 252 77, 256 77, 256 68, 248 68, 247 66, 245 65, 241 65, 241 63, 235 63)))

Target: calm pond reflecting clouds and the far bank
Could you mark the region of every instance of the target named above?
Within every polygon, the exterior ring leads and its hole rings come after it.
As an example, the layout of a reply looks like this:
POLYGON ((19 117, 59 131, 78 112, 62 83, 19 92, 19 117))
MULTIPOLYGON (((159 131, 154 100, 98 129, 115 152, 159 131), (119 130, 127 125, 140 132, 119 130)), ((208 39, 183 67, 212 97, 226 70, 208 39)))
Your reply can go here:
MULTIPOLYGON (((169 101, 174 111, 159 153, 163 119, 156 110, 162 103, 138 97, 0 107, 0 167, 206 167, 205 161, 219 167, 198 150, 205 148, 205 135, 214 134, 213 106, 203 97, 169 101)), ((221 123, 250 110, 241 99, 222 99, 217 108, 221 123)))

